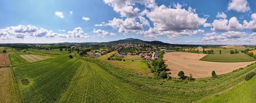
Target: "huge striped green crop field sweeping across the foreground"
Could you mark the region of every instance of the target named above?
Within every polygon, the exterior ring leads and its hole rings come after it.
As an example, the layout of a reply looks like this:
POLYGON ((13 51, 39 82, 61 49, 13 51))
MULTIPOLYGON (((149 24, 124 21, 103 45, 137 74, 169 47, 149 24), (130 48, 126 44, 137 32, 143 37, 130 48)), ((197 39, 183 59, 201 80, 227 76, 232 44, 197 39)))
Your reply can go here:
POLYGON ((105 61, 66 55, 13 71, 23 102, 192 102, 235 87, 255 67, 189 82, 134 75, 105 61))

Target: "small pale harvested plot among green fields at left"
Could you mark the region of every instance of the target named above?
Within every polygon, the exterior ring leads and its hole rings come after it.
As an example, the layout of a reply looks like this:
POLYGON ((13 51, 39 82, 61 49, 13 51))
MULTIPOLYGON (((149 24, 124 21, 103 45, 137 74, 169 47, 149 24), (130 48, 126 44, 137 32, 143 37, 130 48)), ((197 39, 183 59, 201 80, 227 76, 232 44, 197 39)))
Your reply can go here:
POLYGON ((28 62, 36 62, 36 61, 50 58, 48 56, 41 56, 41 55, 21 55, 21 57, 26 59, 28 62))

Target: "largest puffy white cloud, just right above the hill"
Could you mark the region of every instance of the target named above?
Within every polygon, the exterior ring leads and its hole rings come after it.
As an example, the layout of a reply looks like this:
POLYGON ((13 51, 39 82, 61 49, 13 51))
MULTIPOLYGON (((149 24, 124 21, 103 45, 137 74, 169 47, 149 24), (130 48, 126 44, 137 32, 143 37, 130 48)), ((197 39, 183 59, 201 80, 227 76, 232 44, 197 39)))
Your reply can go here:
POLYGON ((197 29, 203 25, 206 19, 199 18, 192 8, 173 9, 164 5, 147 13, 147 17, 153 22, 156 29, 166 31, 181 31, 185 29, 197 29))

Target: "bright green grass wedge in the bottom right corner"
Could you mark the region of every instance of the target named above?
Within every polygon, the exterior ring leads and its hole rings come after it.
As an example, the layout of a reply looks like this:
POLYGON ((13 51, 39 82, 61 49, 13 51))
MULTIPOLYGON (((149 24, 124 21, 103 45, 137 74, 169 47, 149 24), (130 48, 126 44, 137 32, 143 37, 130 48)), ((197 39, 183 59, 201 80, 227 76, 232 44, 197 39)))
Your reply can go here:
POLYGON ((203 102, 255 102, 256 77, 252 78, 241 87, 217 97, 206 99, 203 102))

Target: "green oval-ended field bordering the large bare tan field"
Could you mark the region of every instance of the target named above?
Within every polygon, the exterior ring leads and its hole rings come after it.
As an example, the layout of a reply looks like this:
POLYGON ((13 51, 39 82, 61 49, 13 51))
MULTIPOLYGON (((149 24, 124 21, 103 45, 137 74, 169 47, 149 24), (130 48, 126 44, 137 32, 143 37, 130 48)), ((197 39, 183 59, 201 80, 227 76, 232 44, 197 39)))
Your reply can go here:
POLYGON ((244 54, 209 54, 201 58, 202 61, 213 61, 213 62, 247 62, 255 61, 254 58, 244 54))

